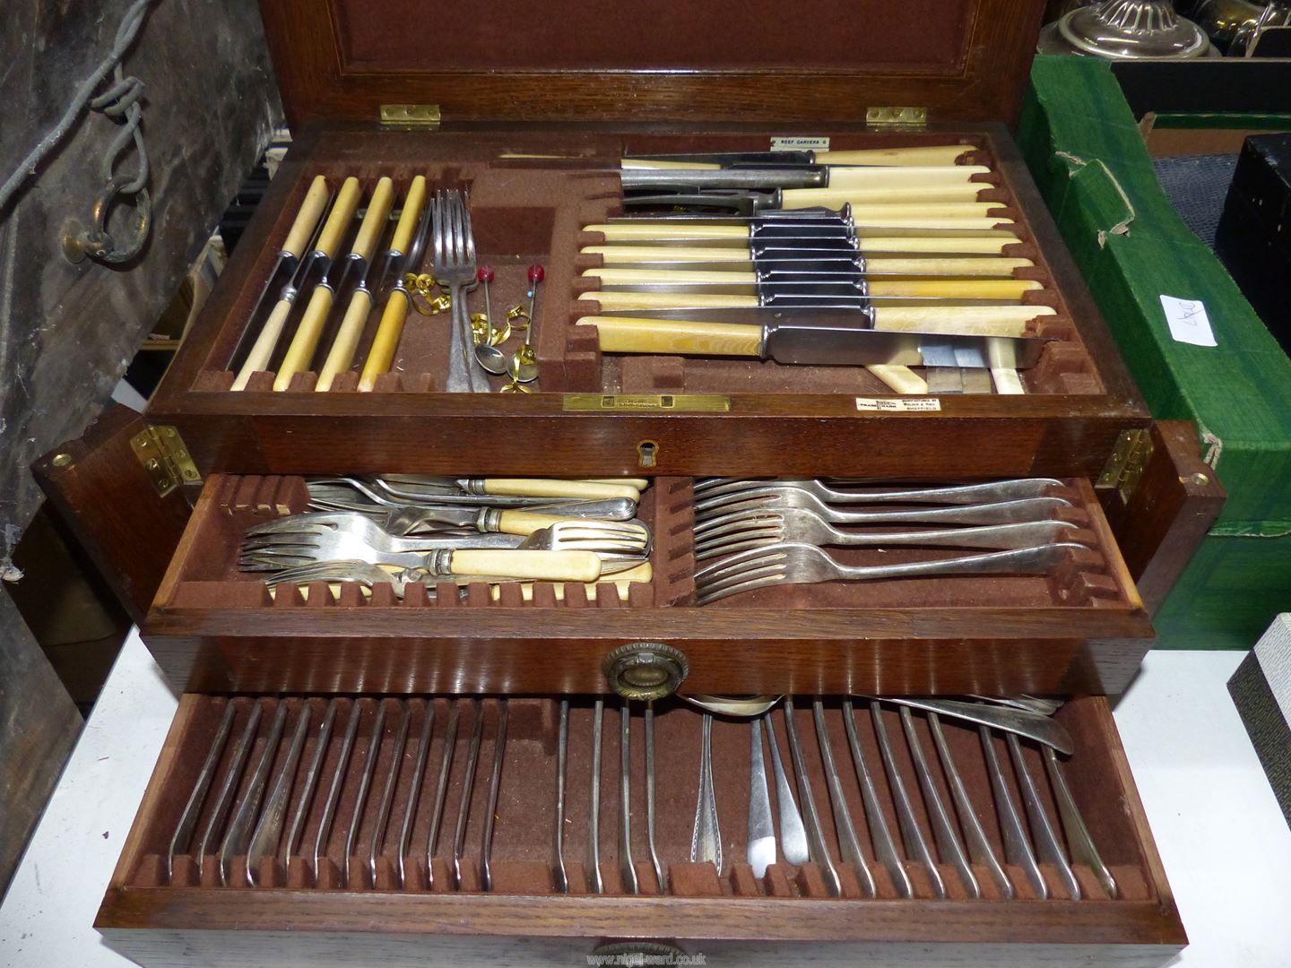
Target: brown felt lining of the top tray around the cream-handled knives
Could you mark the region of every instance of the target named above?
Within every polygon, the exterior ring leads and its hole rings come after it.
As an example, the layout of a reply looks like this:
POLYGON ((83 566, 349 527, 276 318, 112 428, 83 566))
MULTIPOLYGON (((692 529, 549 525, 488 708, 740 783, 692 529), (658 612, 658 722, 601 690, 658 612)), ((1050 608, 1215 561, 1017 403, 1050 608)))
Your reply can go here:
MULTIPOLYGON (((773 132, 771 132, 773 133, 773 132)), ((768 134, 771 134, 768 133, 768 134)), ((961 143, 945 134, 852 134, 834 138, 835 150, 888 147, 893 145, 961 143)), ((538 289, 534 315, 533 343, 540 364, 540 379, 529 385, 533 390, 562 392, 772 392, 772 394, 866 394, 889 392, 869 372, 852 367, 786 367, 776 363, 737 359, 688 359, 680 356, 617 356, 602 355, 595 333, 590 328, 574 325, 577 319, 594 315, 595 283, 581 277, 585 268, 596 259, 578 256, 584 245, 595 244, 599 235, 585 234, 582 226, 603 222, 620 214, 621 192, 617 176, 609 170, 625 152, 686 152, 736 151, 759 148, 766 138, 757 134, 702 134, 702 136, 622 136, 569 132, 550 133, 470 134, 442 133, 436 136, 402 134, 369 136, 351 147, 325 146, 314 157, 314 172, 325 173, 338 186, 347 176, 356 176, 365 194, 381 176, 395 179, 396 199, 402 199, 414 174, 425 174, 430 187, 465 187, 471 194, 473 223, 476 234, 479 265, 491 265, 497 277, 492 285, 491 302, 497 324, 510 306, 528 306, 527 270, 533 262, 545 268, 545 281, 538 289), (402 138, 402 139, 400 139, 402 138), (334 151, 334 156, 332 154, 334 151), (532 155, 568 155, 571 159, 501 159, 506 152, 532 155), (372 161, 369 159, 380 159, 372 161), (581 160, 580 160, 581 159, 581 160)), ((995 168, 989 148, 980 147, 963 159, 966 164, 985 164, 995 168)), ((302 178, 290 201, 279 214, 271 237, 285 237, 288 226, 303 199, 310 178, 302 178)), ((1084 348, 1044 253, 1032 241, 1025 210, 1013 204, 1012 190, 1002 172, 981 178, 985 200, 999 201, 999 214, 1016 222, 1022 244, 1011 247, 1006 254, 1024 256, 1035 262, 1030 270, 1017 270, 1019 279, 1034 279, 1044 288, 1028 293, 1025 302, 1052 306, 1057 315, 1037 320, 1035 333, 1051 337, 1039 364, 1022 372, 1022 383, 1030 394, 1099 394, 1103 382, 1084 348)), ((387 227, 387 236, 392 228, 387 227)), ((350 235, 356 231, 356 222, 350 235)), ((386 240, 378 244, 383 252, 386 240)), ((349 247, 346 239, 345 248, 349 247)), ((420 271, 431 268, 432 245, 427 243, 420 271)), ((222 391, 232 385, 234 374, 225 367, 232 354, 238 334, 269 277, 276 252, 266 249, 257 259, 250 277, 243 281, 243 292, 234 303, 232 312, 222 320, 219 337, 214 341, 205 368, 199 373, 194 390, 222 391)), ((380 263, 380 256, 377 257, 380 263)), ((376 268, 373 270, 376 274, 376 268)), ((333 279, 333 281, 336 281, 333 279)), ((373 277, 373 283, 377 280, 373 277)), ((469 297, 471 312, 484 311, 484 294, 476 289, 469 297)), ((354 364, 333 383, 332 392, 354 392, 371 347, 385 299, 369 314, 367 329, 359 342, 354 364)), ((300 308, 290 318, 272 365, 281 359, 290 341, 300 308)), ((340 310, 337 311, 337 318, 340 310)), ((337 320, 329 323, 333 332, 337 320)), ((522 341, 514 333, 502 346, 513 354, 522 341)), ((447 373, 449 348, 449 316, 420 315, 409 311, 404 324, 391 372, 377 381, 377 391, 442 392, 447 373)), ((320 341, 314 365, 321 364, 329 346, 329 337, 320 341)), ((287 392, 311 392, 316 386, 315 372, 293 377, 287 392)), ((503 377, 489 377, 493 390, 507 382, 503 377)), ((272 388, 272 377, 258 373, 252 377, 248 390, 272 388)))

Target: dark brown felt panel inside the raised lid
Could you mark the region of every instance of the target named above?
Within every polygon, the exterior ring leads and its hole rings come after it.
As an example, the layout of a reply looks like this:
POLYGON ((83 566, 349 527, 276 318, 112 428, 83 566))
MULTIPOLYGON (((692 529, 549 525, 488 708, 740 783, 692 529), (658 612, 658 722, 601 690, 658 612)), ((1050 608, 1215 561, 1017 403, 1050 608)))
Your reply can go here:
MULTIPOLYGON (((861 0, 840 15, 830 0, 806 0, 775 28, 731 0, 667 3, 644 8, 598 8, 572 0, 541 8, 503 0, 487 12, 435 8, 434 43, 413 25, 425 22, 416 0, 385 3, 373 17, 368 4, 334 0, 332 12, 346 71, 391 70, 625 70, 704 66, 707 70, 785 67, 797 70, 923 66, 950 71, 964 55, 968 5, 964 0, 913 0, 902 15, 884 15, 877 0, 861 0), (866 9, 869 8, 869 9, 866 9), (590 15, 589 15, 590 14, 590 15), (873 28, 884 25, 882 31, 873 28), (525 25, 500 32, 500 25, 525 25), (820 26, 830 25, 822 31, 820 26)), ((768 81, 773 83, 773 81, 768 81)))

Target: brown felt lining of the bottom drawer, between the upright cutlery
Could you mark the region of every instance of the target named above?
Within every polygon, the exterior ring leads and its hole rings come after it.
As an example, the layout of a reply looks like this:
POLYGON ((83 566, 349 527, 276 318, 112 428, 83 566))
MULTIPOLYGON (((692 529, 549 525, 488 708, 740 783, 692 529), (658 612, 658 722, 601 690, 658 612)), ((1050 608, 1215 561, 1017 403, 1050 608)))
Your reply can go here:
MULTIPOLYGON (((210 749, 216 725, 223 714, 226 702, 232 702, 236 710, 234 728, 219 758, 214 772, 214 781, 210 783, 210 789, 199 812, 199 822, 196 825, 199 831, 204 829, 214 805, 214 791, 219 789, 227 774, 232 747, 241 736, 241 729, 250 715, 253 702, 259 702, 263 712, 252 763, 254 763, 254 759, 263 749, 266 734, 274 719, 275 703, 279 702, 278 700, 203 697, 194 706, 191 719, 179 741, 179 749, 173 760, 170 773, 163 780, 163 795, 154 805, 151 813, 139 821, 145 825, 139 845, 141 862, 130 874, 132 884, 156 887, 167 883, 164 853, 179 821, 183 805, 194 787, 201 763, 210 749)), ((287 698, 283 702, 288 705, 289 715, 284 740, 274 756, 270 785, 283 769, 285 749, 301 716, 302 705, 307 702, 311 712, 309 741, 301 755, 301 765, 294 773, 290 802, 285 814, 285 834, 297 804, 301 800, 305 789, 306 764, 310 763, 314 755, 319 725, 327 714, 328 706, 327 701, 321 698, 287 698)), ((337 772, 341 740, 354 710, 354 700, 347 698, 334 700, 337 715, 328 751, 323 760, 316 790, 306 813, 307 820, 303 826, 303 835, 293 853, 290 871, 287 870, 287 865, 284 863, 285 845, 280 845, 276 858, 272 862, 266 861, 259 869, 261 883, 266 887, 315 887, 312 844, 321 820, 324 800, 330 789, 332 777, 337 772)), ((407 715, 408 736, 400 750, 398 780, 383 835, 378 839, 376 858, 376 887, 385 891, 399 889, 395 875, 399 835, 404 818, 408 814, 422 725, 426 721, 427 710, 432 710, 431 743, 426 758, 423 781, 412 812, 411 847, 405 856, 405 889, 454 889, 451 878, 451 866, 454 832, 461 814, 462 792, 465 789, 467 746, 475 715, 482 714, 484 718, 483 740, 475 765, 474 786, 467 813, 460 888, 461 891, 480 891, 480 844, 484 835, 484 817, 489 798, 489 778, 496 750, 494 743, 501 701, 460 700, 456 702, 458 724, 452 768, 448 774, 444 813, 432 858, 432 884, 427 883, 425 862, 426 844, 430 834, 440 764, 443 761, 445 734, 454 705, 443 698, 427 700, 420 697, 404 700, 363 698, 358 703, 360 716, 358 733, 347 761, 330 835, 327 840, 325 860, 319 865, 318 887, 345 888, 349 891, 364 891, 373 887, 369 866, 372 834, 378 823, 385 783, 396 760, 396 737, 402 720, 407 715), (354 840, 356 847, 351 851, 350 878, 346 882, 345 843, 351 820, 355 816, 355 805, 359 802, 361 774, 372 752, 372 731, 377 716, 377 703, 382 703, 386 711, 385 729, 382 732, 376 767, 372 772, 369 790, 364 799, 364 809, 356 827, 356 838, 354 840)), ((605 893, 624 893, 618 866, 621 715, 622 711, 617 700, 607 703, 603 714, 600 747, 600 835, 598 842, 605 893)), ((790 782, 793 782, 794 773, 784 715, 782 710, 775 711, 773 721, 781 756, 789 771, 790 782)), ((915 884, 917 897, 928 898, 932 897, 932 893, 927 872, 918 863, 909 861, 901 845, 891 787, 879 758, 870 715, 868 703, 860 700, 856 701, 857 734, 862 755, 875 780, 884 816, 897 842, 899 853, 906 858, 906 867, 915 884)), ((888 733, 896 751, 897 768, 915 804, 920 829, 930 844, 932 844, 933 840, 923 795, 919 791, 918 780, 913 771, 900 716, 895 707, 891 706, 886 706, 882 715, 887 723, 888 733)), ((593 716, 594 710, 590 700, 576 698, 573 701, 569 715, 563 839, 565 869, 573 893, 584 893, 589 889, 586 863, 589 857, 587 836, 590 831, 593 716)), ((837 701, 826 701, 825 718, 829 745, 842 778, 844 798, 861 842, 862 853, 871 861, 873 874, 878 884, 878 896, 880 898, 895 898, 897 894, 887 872, 878 863, 873 862, 873 843, 865 822, 860 787, 856 782, 856 773, 842 716, 840 705, 837 701)), ((514 698, 509 701, 507 741, 491 857, 493 891, 497 893, 541 894, 550 893, 554 889, 551 863, 554 856, 558 718, 559 703, 554 700, 514 698)), ((919 742, 932 764, 936 786, 941 795, 946 798, 948 807, 953 814, 954 808, 949 802, 942 765, 932 747, 927 725, 922 714, 917 714, 914 719, 919 742)), ((1112 752, 1097 740, 1096 710, 1092 701, 1075 700, 1066 703, 1057 714, 1057 719, 1068 725, 1077 740, 1077 751, 1064 765, 1065 774, 1097 848, 1121 885, 1122 897, 1137 901, 1150 898, 1152 888, 1141 844, 1135 832, 1133 823, 1124 809, 1124 791, 1119 789, 1114 780, 1117 771, 1112 760, 1112 752)), ((821 767, 820 747, 817 745, 809 701, 800 700, 795 703, 795 723, 802 743, 804 765, 811 777, 812 795, 821 814, 826 849, 839 869, 844 884, 844 897, 860 898, 862 894, 855 871, 848 870, 838 860, 838 842, 834 834, 831 804, 821 767)), ((664 893, 688 897, 715 894, 825 897, 824 879, 816 865, 808 863, 803 869, 797 869, 781 862, 768 870, 767 876, 759 882, 745 863, 750 741, 750 724, 747 720, 718 718, 713 729, 714 789, 724 856, 722 876, 718 876, 718 871, 710 863, 689 862, 697 798, 700 725, 701 716, 698 712, 684 703, 666 701, 657 705, 655 715, 656 843, 667 879, 664 893)), ((1002 857, 998 818, 990 794, 979 733, 972 727, 959 725, 954 720, 945 718, 942 719, 942 727, 951 750, 951 758, 963 776, 970 799, 975 805, 975 812, 980 817, 993 848, 1002 857)), ((631 817, 631 853, 643 893, 660 893, 660 885, 655 879, 649 862, 646 832, 644 720, 639 705, 633 709, 630 731, 631 765, 629 776, 631 799, 629 813, 631 817)), ((997 746, 1001 759, 1006 764, 1006 778, 1016 792, 1012 767, 1008 765, 1008 755, 1003 741, 997 738, 997 746)), ((1055 827, 1061 830, 1057 823, 1056 808, 1039 752, 1030 749, 1029 745, 1026 746, 1025 758, 1028 760, 1028 771, 1041 790, 1044 807, 1055 827)), ((767 760, 769 781, 769 754, 764 754, 764 758, 767 760)), ((238 799, 241 799, 248 790, 250 772, 252 769, 248 767, 240 778, 238 799)), ((775 783, 768 782, 768 786, 771 796, 775 798, 775 783)), ((179 854, 176 858, 174 883, 182 885, 218 884, 217 858, 214 856, 205 857, 201 863, 201 874, 199 875, 196 857, 187 853, 191 849, 195 849, 195 844, 179 845, 179 854)), ((217 853, 217 848, 208 849, 212 853, 217 853)), ((933 856, 936 856, 935 848, 933 856)), ((950 865, 945 863, 945 858, 940 858, 940 874, 942 882, 946 884, 949 897, 951 900, 964 900, 967 894, 959 883, 957 872, 950 865)), ((234 876, 230 880, 231 887, 247 887, 244 866, 245 861, 240 858, 232 865, 234 876)), ((1086 897, 1088 900, 1106 900, 1092 874, 1079 866, 1077 870, 1084 887, 1086 897)), ((1007 872, 1020 900, 1034 897, 1020 870, 1007 867, 1007 872)), ((1044 874, 1050 884, 1051 897, 1065 897, 1055 872, 1046 870, 1044 874)), ((985 900, 998 900, 998 893, 991 885, 986 871, 981 867, 975 867, 975 875, 982 887, 982 897, 985 900)))

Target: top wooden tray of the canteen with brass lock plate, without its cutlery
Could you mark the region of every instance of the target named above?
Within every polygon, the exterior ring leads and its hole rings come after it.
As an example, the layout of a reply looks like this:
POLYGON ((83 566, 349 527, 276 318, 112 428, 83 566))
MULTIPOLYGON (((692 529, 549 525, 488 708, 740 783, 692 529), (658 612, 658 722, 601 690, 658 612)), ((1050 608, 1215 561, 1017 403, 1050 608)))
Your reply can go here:
MULTIPOLYGON (((541 475, 559 466, 562 472, 587 476, 750 476, 768 467, 843 474, 851 472, 856 453, 866 454, 875 474, 1092 476, 1119 432, 1146 423, 1137 392, 1016 148, 1002 128, 990 125, 908 134, 840 125, 831 132, 831 146, 967 145, 976 148, 967 160, 991 166, 990 174, 979 176, 985 179, 982 197, 999 203, 998 214, 1013 219, 1022 240, 1007 247, 1006 254, 1034 262, 1015 275, 1041 287, 1025 293, 1022 302, 1053 310, 1029 324, 1029 332, 1050 342, 1038 365, 1020 372, 1021 396, 950 392, 936 385, 918 395, 920 403, 893 413, 864 403, 893 394, 862 367, 603 354, 595 327, 576 325, 600 310, 598 283, 582 275, 600 258, 580 249, 602 240, 582 231, 585 226, 621 214, 617 159, 625 151, 764 148, 776 133, 772 128, 740 134, 569 128, 444 130, 426 137, 306 130, 159 387, 150 419, 178 427, 203 472, 307 471, 324 441, 346 471, 378 472, 381 461, 389 459, 382 456, 402 448, 402 470, 442 472, 469 453, 478 457, 480 449, 491 449, 480 441, 505 419, 515 439, 542 441, 506 448, 513 472, 541 475), (545 267, 533 323, 536 392, 444 392, 449 314, 416 311, 404 323, 392 369, 377 377, 373 392, 358 392, 358 370, 385 297, 369 315, 354 367, 328 392, 314 392, 318 376, 309 367, 281 392, 272 391, 269 372, 253 376, 241 392, 230 390, 235 346, 306 190, 320 174, 333 187, 358 177, 364 196, 381 176, 394 178, 396 197, 414 174, 425 174, 432 188, 470 190, 476 261, 497 272, 494 321, 501 324, 513 305, 528 308, 527 270, 534 262, 545 267), (911 419, 919 422, 918 430, 904 426, 911 419), (799 447, 804 434, 822 441, 809 459, 799 447), (421 445, 405 448, 409 435, 421 445), (590 439, 599 447, 582 447, 590 439), (648 454, 642 444, 651 444, 648 454)), ((422 268, 430 271, 429 259, 422 268)), ((483 312, 483 293, 469 294, 469 303, 471 312, 483 312)), ((519 341, 520 334, 513 334, 503 351, 511 352, 519 341)), ((985 385, 970 379, 966 388, 989 391, 988 370, 963 373, 988 379, 985 385)), ((491 386, 498 390, 505 382, 494 377, 491 386)))

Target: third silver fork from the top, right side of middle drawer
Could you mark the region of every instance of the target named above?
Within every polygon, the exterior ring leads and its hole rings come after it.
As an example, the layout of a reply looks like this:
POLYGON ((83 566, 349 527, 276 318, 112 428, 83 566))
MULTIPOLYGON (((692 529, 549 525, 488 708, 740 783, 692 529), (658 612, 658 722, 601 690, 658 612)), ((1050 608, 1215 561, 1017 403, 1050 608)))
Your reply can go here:
POLYGON ((985 528, 936 528, 910 532, 843 532, 820 515, 800 507, 746 518, 720 534, 709 533, 695 543, 695 558, 704 560, 762 545, 798 542, 828 547, 984 547, 1017 549, 1048 545, 1062 532, 1075 530, 1066 521, 1021 521, 985 528))

